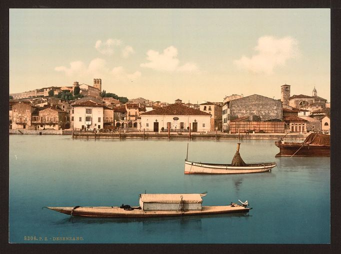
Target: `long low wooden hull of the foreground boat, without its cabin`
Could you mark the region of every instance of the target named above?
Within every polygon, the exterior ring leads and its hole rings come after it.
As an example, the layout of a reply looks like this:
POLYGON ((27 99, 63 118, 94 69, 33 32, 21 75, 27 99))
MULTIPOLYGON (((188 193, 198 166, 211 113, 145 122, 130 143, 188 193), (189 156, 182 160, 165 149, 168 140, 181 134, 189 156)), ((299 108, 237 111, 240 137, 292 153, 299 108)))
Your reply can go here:
POLYGON ((206 214, 221 214, 231 212, 248 212, 251 208, 244 207, 242 205, 220 205, 220 206, 202 206, 201 210, 162 210, 144 211, 142 209, 124 210, 119 207, 46 207, 51 210, 55 210, 61 213, 65 213, 72 216, 84 216, 84 217, 173 217, 173 216, 193 216, 193 215, 206 215, 206 214))

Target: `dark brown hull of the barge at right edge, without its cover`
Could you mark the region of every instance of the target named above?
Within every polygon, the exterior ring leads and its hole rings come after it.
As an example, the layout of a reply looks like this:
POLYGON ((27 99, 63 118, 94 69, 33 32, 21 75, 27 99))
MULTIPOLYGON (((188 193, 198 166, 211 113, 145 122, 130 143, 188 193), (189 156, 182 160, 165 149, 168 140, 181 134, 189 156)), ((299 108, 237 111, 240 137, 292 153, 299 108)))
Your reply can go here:
POLYGON ((303 144, 276 141, 275 145, 279 148, 279 152, 275 157, 280 156, 313 156, 313 157, 330 157, 330 145, 303 144))

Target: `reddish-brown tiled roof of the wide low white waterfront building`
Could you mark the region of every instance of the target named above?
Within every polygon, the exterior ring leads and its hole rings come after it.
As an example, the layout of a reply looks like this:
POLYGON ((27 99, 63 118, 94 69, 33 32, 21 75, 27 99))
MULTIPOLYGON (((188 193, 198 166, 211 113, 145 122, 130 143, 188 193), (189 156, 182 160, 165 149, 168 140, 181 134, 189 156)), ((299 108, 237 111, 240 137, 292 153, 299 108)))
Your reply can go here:
POLYGON ((141 115, 211 115, 211 114, 200 111, 199 109, 194 109, 185 106, 180 103, 174 103, 161 108, 153 109, 145 113, 141 113, 141 115))

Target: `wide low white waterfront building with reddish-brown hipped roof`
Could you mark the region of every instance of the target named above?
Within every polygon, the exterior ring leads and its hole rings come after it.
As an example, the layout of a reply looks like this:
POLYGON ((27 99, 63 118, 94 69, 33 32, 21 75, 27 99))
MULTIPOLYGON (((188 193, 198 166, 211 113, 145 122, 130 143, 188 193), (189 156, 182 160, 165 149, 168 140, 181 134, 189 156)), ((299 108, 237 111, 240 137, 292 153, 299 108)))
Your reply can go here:
POLYGON ((190 108, 182 103, 174 103, 145 113, 141 113, 141 129, 158 132, 171 131, 204 132, 210 130, 211 114, 190 108))

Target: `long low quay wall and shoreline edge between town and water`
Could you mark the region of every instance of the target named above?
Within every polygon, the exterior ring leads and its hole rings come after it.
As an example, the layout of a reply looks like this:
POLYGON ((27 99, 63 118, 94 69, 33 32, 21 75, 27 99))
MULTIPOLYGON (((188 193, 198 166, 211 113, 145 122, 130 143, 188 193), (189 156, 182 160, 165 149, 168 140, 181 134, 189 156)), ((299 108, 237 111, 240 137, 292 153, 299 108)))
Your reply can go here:
MULTIPOLYGON (((72 130, 9 130, 9 134, 30 134, 30 135, 72 135, 72 130)), ((73 138, 76 139, 165 139, 165 140, 225 140, 225 139, 243 139, 243 140, 304 140, 309 133, 235 133, 229 134, 224 132, 191 132, 189 133, 177 133, 177 132, 121 132, 121 133, 93 133, 93 132, 81 132, 74 133, 73 138)))

